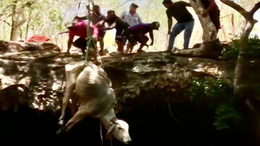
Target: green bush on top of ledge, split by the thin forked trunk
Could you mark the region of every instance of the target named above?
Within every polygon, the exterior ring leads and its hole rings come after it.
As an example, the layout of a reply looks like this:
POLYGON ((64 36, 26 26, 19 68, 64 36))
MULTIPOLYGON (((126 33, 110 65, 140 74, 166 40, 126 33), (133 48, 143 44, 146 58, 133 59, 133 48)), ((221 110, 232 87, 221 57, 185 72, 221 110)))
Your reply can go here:
MULTIPOLYGON (((260 39, 257 35, 250 37, 249 40, 249 57, 260 58, 260 39)), ((225 59, 237 59, 239 54, 240 40, 234 39, 224 48, 222 54, 225 59)))

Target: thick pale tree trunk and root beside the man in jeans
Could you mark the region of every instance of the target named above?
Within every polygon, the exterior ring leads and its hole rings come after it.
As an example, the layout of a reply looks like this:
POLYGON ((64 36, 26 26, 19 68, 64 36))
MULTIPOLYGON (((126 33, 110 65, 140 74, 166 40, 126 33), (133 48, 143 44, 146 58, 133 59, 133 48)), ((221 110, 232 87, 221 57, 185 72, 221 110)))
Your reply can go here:
POLYGON ((174 54, 183 55, 183 56, 192 56, 192 57, 205 57, 205 58, 216 58, 220 56, 222 51, 222 46, 217 37, 216 27, 212 23, 209 16, 202 17, 201 12, 205 11, 200 0, 189 0, 191 6, 195 10, 196 14, 199 17, 201 26, 203 28, 203 43, 198 48, 187 49, 187 50, 178 50, 174 54))

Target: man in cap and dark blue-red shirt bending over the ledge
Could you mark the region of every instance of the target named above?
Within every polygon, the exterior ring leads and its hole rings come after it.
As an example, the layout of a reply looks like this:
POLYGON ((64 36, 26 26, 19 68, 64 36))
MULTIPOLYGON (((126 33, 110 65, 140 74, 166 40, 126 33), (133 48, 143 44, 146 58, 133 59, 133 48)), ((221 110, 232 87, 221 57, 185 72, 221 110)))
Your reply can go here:
POLYGON ((127 44, 126 53, 128 53, 129 48, 131 48, 130 53, 132 52, 132 49, 136 45, 137 41, 141 43, 139 49, 137 50, 137 53, 142 52, 142 48, 147 45, 146 43, 149 40, 149 38, 145 36, 145 34, 147 34, 148 32, 152 40, 150 46, 152 46, 154 43, 153 30, 159 30, 159 27, 160 27, 159 22, 139 23, 129 27, 125 32, 127 39, 129 41, 129 43, 127 44))

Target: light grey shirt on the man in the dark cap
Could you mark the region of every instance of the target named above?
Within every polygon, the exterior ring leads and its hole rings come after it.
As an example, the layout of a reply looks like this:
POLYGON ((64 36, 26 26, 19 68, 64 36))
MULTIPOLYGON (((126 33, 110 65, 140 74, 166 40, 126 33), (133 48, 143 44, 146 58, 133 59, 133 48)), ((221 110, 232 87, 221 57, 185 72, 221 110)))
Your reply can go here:
POLYGON ((126 21, 130 26, 143 22, 139 13, 134 13, 132 15, 131 13, 129 13, 129 11, 124 11, 121 14, 120 18, 123 19, 124 21, 126 21))

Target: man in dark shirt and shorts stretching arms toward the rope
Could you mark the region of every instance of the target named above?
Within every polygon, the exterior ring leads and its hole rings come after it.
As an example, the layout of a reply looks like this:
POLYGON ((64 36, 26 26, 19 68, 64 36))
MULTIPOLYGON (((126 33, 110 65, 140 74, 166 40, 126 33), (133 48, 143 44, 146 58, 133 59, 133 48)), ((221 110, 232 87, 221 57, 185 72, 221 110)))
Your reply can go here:
POLYGON ((104 25, 105 22, 109 25, 109 27, 100 28, 100 30, 111 30, 115 28, 117 30, 115 39, 118 47, 117 51, 124 53, 126 38, 123 36, 123 32, 129 27, 129 24, 118 17, 113 10, 109 10, 107 12, 107 18, 97 23, 96 26, 99 27, 99 25, 104 25))

